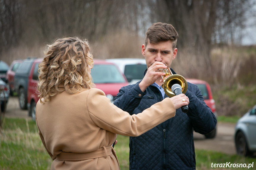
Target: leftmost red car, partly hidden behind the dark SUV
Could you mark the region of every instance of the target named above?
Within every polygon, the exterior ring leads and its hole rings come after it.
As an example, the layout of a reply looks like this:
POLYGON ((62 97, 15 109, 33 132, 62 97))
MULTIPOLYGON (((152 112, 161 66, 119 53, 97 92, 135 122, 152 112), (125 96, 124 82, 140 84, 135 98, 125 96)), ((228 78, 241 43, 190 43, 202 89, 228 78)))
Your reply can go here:
POLYGON ((7 87, 9 88, 10 95, 12 95, 12 93, 15 91, 14 76, 15 76, 15 72, 20 67, 20 63, 22 63, 22 60, 12 61, 11 66, 9 67, 8 71, 6 72, 7 87))

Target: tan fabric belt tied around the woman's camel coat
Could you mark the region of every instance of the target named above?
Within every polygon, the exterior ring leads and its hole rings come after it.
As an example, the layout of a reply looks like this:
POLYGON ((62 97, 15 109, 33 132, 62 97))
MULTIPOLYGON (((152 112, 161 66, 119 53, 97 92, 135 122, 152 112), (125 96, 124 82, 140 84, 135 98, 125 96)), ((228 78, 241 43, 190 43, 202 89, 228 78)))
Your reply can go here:
POLYGON ((112 146, 103 146, 98 150, 87 153, 61 152, 60 154, 57 155, 56 159, 60 161, 81 161, 100 157, 107 158, 107 156, 112 155, 112 149, 112 146))

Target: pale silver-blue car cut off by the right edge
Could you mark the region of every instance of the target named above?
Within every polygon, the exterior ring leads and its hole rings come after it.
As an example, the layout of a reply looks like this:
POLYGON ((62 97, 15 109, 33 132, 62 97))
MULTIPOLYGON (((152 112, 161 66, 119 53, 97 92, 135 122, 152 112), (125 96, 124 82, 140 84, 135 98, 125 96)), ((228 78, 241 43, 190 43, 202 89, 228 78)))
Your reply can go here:
POLYGON ((238 120, 234 138, 238 155, 256 153, 256 105, 238 120))

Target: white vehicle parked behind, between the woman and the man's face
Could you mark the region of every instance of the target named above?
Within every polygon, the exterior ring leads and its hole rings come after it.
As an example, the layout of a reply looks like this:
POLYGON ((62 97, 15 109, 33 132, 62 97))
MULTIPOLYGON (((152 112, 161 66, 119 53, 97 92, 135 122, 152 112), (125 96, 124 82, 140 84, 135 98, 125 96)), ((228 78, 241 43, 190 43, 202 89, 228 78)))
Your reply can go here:
POLYGON ((124 73, 126 79, 130 84, 135 84, 144 77, 144 71, 147 69, 145 59, 138 58, 119 58, 106 59, 108 62, 115 63, 121 72, 124 73))

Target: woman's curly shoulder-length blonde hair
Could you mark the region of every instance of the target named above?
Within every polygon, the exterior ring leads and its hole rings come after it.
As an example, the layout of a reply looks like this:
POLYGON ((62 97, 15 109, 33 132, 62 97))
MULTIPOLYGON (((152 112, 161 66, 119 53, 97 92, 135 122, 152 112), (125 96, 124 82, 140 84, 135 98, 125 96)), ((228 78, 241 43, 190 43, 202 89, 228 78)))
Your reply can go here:
POLYGON ((83 88, 94 86, 90 75, 93 55, 88 41, 78 37, 59 38, 44 52, 39 64, 40 102, 51 100, 51 96, 66 90, 69 94, 79 93, 83 88), (62 87, 62 88, 61 88, 62 87), (43 98, 43 101, 42 101, 43 98))

